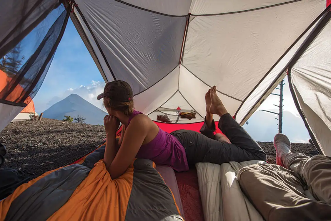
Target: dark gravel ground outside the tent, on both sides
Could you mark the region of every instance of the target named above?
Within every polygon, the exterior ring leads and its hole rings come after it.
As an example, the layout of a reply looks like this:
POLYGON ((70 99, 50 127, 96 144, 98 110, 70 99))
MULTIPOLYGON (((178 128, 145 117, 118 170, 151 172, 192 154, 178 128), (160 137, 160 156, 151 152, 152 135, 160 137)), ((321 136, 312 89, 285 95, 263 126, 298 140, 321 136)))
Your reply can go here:
MULTIPOLYGON (((83 125, 53 119, 10 123, 1 133, 0 142, 6 145, 3 168, 22 170, 37 177, 46 171, 64 166, 105 142, 103 126, 83 125)), ((275 163, 272 142, 259 142, 267 161, 275 163)), ((310 143, 292 143, 293 152, 308 156, 318 154, 310 143)))

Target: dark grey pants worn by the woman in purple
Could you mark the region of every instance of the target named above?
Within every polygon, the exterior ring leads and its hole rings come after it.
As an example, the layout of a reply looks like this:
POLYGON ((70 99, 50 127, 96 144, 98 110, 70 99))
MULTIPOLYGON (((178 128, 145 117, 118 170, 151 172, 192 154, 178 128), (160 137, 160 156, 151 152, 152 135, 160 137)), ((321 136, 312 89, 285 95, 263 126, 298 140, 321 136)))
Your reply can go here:
POLYGON ((230 114, 224 114, 219 119, 218 128, 231 143, 220 142, 190 130, 178 130, 170 134, 184 146, 189 165, 198 162, 222 164, 230 161, 266 160, 259 144, 230 114))

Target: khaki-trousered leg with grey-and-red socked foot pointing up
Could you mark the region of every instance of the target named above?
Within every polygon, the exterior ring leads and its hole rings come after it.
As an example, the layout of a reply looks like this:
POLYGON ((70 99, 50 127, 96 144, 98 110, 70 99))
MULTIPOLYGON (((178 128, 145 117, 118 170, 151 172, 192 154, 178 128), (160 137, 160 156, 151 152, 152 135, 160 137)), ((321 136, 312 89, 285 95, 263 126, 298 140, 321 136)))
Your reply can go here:
POLYGON ((316 199, 331 205, 331 157, 292 153, 290 140, 283 134, 275 136, 274 145, 277 164, 297 173, 316 199))

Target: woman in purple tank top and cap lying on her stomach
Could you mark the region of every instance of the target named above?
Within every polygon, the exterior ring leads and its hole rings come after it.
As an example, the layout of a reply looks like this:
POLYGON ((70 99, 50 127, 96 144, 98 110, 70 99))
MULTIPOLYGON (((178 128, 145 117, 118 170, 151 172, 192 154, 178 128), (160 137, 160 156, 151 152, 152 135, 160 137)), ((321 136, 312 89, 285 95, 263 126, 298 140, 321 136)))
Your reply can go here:
POLYGON ((121 176, 134 158, 150 159, 156 165, 188 171, 197 162, 222 164, 229 161, 265 160, 265 153, 247 132, 231 117, 213 86, 206 93, 206 118, 201 133, 178 130, 170 134, 158 127, 148 116, 133 109, 130 85, 116 80, 107 83, 102 99, 109 113, 104 118, 107 144, 104 163, 112 179, 121 176), (218 128, 226 135, 214 139, 213 114, 220 119, 218 128), (123 124, 117 143, 116 132, 123 124), (119 147, 119 148, 118 148, 119 147))

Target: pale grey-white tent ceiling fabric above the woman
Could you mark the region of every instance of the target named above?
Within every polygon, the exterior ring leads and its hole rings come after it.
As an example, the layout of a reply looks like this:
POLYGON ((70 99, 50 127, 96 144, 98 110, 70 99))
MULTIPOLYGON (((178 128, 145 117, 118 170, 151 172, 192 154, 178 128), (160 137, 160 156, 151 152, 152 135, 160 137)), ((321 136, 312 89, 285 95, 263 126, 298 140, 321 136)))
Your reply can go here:
POLYGON ((139 94, 136 109, 150 114, 178 90, 204 117, 204 94, 216 85, 228 111, 240 113, 239 122, 279 77, 286 59, 266 76, 269 85, 257 84, 326 5, 325 0, 76 3, 79 11, 74 13, 81 19, 74 22, 90 32, 86 36, 102 73, 108 81, 131 84, 139 94))

